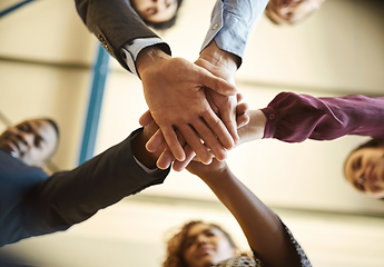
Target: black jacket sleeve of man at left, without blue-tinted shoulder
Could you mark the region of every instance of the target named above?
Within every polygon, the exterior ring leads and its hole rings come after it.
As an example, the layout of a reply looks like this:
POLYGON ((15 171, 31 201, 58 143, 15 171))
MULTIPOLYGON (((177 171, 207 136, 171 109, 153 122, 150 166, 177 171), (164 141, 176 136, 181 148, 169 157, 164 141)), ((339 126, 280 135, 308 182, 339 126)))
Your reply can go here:
POLYGON ((78 168, 55 174, 41 182, 29 196, 35 207, 28 209, 33 214, 26 216, 37 218, 28 226, 30 234, 67 229, 124 197, 161 184, 169 169, 152 176, 144 171, 132 157, 131 136, 78 168))

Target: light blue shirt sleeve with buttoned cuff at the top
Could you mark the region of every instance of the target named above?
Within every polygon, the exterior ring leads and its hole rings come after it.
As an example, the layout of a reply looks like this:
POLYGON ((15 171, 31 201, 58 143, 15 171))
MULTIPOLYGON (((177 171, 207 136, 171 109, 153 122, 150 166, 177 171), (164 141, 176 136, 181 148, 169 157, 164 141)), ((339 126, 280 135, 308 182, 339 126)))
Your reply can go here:
POLYGON ((215 39, 221 50, 242 59, 253 24, 262 18, 268 0, 217 0, 201 50, 215 39))

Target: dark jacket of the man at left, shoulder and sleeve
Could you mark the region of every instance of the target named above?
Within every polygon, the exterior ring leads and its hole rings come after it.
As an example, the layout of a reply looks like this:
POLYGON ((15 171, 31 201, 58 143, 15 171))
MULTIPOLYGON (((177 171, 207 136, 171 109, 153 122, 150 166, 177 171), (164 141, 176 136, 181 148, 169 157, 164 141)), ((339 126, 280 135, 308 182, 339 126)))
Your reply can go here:
POLYGON ((126 196, 161 184, 169 169, 149 176, 132 157, 130 141, 137 131, 78 168, 50 177, 0 150, 0 246, 66 230, 126 196))

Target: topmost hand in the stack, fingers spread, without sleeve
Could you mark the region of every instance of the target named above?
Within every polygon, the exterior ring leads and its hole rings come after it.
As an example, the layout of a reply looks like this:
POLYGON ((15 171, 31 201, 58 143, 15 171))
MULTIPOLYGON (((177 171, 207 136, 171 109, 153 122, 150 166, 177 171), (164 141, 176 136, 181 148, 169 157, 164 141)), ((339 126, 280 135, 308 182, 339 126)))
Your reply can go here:
MULTIPOLYGON (((185 59, 170 58, 161 52, 146 53, 137 60, 137 69, 151 116, 171 154, 177 160, 186 158, 177 141, 176 128, 203 162, 211 161, 207 147, 217 158, 225 159, 225 148, 233 148, 234 140, 209 107, 203 88, 211 88, 226 96, 235 95, 236 88, 185 59)), ((157 149, 150 142, 147 148, 157 149)))

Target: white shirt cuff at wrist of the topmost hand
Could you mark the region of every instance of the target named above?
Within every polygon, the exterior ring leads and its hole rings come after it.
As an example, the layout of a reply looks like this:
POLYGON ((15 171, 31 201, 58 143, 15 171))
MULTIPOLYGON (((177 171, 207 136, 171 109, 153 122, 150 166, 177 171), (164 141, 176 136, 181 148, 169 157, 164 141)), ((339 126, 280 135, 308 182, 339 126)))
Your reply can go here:
POLYGON ((165 41, 163 41, 160 38, 158 37, 152 37, 152 38, 138 38, 135 39, 126 44, 124 44, 121 47, 121 56, 125 59, 128 69, 130 72, 132 72, 134 75, 138 76, 137 70, 136 70, 136 59, 137 56, 139 55, 139 52, 147 48, 147 47, 151 47, 151 46, 156 46, 159 44, 159 48, 168 53, 170 56, 170 48, 168 46, 168 43, 166 43, 165 41))

